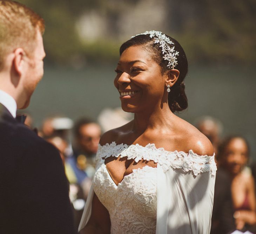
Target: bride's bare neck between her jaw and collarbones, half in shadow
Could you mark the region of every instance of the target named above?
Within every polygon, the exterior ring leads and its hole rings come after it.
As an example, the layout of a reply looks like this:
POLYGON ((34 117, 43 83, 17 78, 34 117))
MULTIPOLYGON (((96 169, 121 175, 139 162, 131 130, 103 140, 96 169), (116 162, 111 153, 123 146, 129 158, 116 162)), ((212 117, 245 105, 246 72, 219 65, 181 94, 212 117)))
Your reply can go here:
POLYGON ((162 129, 170 126, 174 113, 171 112, 167 103, 162 108, 156 107, 151 110, 143 110, 134 114, 133 131, 144 132, 148 129, 162 129))

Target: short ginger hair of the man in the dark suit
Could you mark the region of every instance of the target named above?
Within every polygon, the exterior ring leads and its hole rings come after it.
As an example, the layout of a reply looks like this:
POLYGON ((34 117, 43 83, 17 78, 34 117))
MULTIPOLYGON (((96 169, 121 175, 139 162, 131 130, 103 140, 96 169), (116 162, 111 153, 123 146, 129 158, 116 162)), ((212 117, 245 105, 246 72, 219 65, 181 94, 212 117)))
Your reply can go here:
POLYGON ((19 2, 0 0, 0 70, 6 55, 16 48, 32 53, 37 28, 43 34, 45 24, 38 14, 19 2))

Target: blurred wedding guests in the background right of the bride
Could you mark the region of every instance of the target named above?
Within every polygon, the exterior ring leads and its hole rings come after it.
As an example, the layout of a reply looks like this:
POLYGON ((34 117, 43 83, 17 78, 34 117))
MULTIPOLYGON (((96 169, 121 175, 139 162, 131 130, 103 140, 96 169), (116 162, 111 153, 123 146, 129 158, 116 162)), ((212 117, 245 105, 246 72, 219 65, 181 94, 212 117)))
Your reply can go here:
POLYGON ((247 139, 240 135, 221 139, 223 126, 212 117, 198 119, 196 127, 213 144, 217 163, 211 234, 256 233, 256 164, 249 165, 247 139))

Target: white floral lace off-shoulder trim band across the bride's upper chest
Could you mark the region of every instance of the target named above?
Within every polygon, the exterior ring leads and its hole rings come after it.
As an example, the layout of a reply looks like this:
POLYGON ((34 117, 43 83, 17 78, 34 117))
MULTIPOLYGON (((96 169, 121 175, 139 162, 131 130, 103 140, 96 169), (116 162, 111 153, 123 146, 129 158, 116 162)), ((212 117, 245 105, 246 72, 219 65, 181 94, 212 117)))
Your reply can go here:
MULTIPOLYGON (((153 160, 155 163, 163 167, 166 172, 170 167, 176 169, 180 168, 186 172, 192 171, 196 176, 203 172, 211 172, 212 175, 216 174, 216 163, 214 156, 203 155, 200 156, 189 150, 188 153, 183 151, 167 151, 164 148, 156 148, 154 143, 149 143, 146 146, 139 144, 111 144, 100 145, 98 148, 96 159, 100 160, 108 157, 127 157, 127 159, 134 159, 136 162, 140 160, 153 160)), ((105 161, 105 160, 103 160, 105 161)))

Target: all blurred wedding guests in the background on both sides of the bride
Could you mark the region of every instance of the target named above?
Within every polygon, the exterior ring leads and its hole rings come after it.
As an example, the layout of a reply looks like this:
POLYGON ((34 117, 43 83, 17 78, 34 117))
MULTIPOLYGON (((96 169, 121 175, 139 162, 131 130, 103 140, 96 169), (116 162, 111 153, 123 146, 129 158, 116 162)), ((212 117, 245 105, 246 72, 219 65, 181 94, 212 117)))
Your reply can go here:
MULTIPOLYGON (((103 110, 97 122, 86 117, 73 122, 63 116, 42 122, 38 134, 59 149, 65 166, 76 227, 90 189, 102 133, 131 119, 132 115, 117 108, 103 110)), ((25 124, 33 129, 29 115, 25 124)), ((221 138, 223 126, 212 117, 197 119, 195 125, 213 144, 217 163, 211 233, 227 234, 236 229, 256 233, 256 163, 249 165, 247 140, 238 135, 221 138)))

